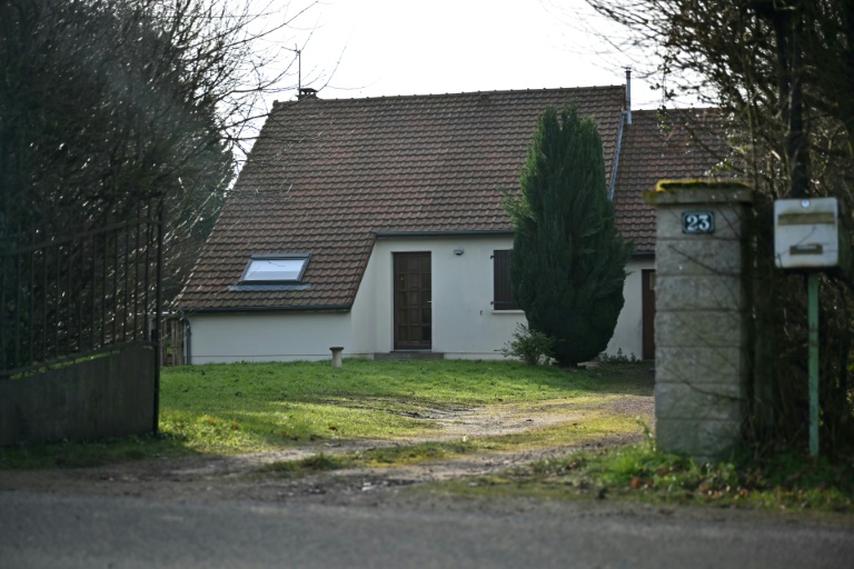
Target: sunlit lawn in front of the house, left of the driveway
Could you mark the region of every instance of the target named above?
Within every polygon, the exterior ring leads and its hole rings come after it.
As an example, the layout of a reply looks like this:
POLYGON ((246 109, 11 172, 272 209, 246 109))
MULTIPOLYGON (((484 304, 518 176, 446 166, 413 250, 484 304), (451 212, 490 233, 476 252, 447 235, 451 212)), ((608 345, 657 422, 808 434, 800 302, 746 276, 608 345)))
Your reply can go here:
MULTIPOLYGON (((405 440, 436 429, 434 421, 418 418, 431 410, 554 399, 584 406, 620 393, 648 395, 651 381, 635 376, 625 367, 574 371, 512 361, 346 360, 340 369, 328 362, 165 368, 158 436, 0 449, 0 468, 259 452, 317 440, 405 440)), ((555 433, 540 436, 540 443, 547 443, 555 433)))

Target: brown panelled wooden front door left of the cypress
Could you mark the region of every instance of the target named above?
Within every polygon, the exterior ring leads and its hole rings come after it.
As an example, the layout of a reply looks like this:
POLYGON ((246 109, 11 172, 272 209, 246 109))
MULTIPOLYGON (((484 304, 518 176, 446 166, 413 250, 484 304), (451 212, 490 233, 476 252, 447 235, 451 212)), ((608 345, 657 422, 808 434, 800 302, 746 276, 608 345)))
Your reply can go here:
POLYGON ((394 253, 395 349, 433 348, 430 253, 394 253))

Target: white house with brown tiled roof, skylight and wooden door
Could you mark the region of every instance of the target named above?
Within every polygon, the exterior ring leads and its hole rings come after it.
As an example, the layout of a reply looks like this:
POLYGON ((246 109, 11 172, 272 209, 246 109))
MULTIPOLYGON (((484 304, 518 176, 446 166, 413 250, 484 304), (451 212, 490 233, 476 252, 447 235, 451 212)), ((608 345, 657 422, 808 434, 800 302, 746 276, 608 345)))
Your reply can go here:
POLYGON ((619 227, 637 243, 608 351, 651 357, 655 213, 640 192, 716 162, 685 129, 625 112, 624 86, 304 94, 274 106, 177 301, 189 362, 328 359, 331 347, 500 358, 525 315, 509 297, 499 189, 518 187, 538 116, 567 100, 599 126, 619 227))

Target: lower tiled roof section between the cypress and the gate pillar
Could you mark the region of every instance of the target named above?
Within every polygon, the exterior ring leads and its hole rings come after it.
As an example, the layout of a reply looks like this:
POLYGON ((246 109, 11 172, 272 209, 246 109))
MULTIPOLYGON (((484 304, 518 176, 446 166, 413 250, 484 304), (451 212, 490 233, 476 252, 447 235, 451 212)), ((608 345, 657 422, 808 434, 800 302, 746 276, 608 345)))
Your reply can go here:
POLYGON ((623 131, 614 208, 635 253, 655 251, 655 210, 642 193, 659 180, 708 178, 726 154, 724 121, 717 109, 632 111, 623 131))

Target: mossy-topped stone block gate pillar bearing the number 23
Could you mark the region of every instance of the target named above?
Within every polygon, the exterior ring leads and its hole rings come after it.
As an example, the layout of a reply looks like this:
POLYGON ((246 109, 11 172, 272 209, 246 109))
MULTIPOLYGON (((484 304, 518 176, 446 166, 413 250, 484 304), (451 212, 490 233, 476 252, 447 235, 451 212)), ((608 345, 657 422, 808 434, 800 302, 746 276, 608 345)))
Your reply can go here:
POLYGON ((729 182, 663 181, 655 316, 656 442, 704 461, 742 440, 747 411, 748 302, 744 223, 751 191, 729 182))

